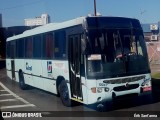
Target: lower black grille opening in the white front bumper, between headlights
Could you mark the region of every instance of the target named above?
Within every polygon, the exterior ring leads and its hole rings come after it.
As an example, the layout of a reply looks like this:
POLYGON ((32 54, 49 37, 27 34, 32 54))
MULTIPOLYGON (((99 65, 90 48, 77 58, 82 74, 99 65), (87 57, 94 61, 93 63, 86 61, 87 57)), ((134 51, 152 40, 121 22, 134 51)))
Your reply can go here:
POLYGON ((132 90, 132 89, 136 89, 139 87, 139 84, 132 84, 132 85, 128 85, 128 86, 119 86, 119 87, 114 87, 113 90, 116 92, 120 92, 120 91, 126 91, 126 90, 132 90))

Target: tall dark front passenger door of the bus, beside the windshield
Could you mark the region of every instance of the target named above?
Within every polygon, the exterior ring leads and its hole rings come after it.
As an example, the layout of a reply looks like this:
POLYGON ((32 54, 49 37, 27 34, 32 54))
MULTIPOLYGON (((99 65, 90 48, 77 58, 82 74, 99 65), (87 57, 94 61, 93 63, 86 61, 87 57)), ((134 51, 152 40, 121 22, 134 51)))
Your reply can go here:
POLYGON ((68 59, 69 59, 69 77, 71 87, 71 97, 83 101, 81 84, 81 47, 80 35, 69 36, 68 41, 68 59))

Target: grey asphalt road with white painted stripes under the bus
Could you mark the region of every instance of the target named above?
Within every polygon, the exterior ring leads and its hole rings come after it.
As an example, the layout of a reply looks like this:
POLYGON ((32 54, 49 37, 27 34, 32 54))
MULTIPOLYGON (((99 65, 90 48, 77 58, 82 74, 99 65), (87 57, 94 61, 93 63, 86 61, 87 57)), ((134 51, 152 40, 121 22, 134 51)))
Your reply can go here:
MULTIPOLYGON (((21 90, 18 83, 10 80, 6 76, 5 69, 0 70, 0 108, 3 112, 15 112, 28 115, 35 113, 42 118, 23 118, 23 119, 86 119, 86 120, 130 120, 139 116, 141 119, 149 118, 147 115, 158 115, 160 117, 160 80, 152 80, 153 97, 126 99, 115 102, 111 111, 97 112, 89 106, 76 105, 65 107, 61 100, 54 94, 30 87, 28 90, 21 90), (142 112, 143 111, 143 112, 142 112), (144 112, 146 111, 146 112, 144 112), (146 115, 146 116, 143 116, 146 115), (62 116, 62 117, 60 117, 62 116), (103 117, 102 117, 103 116, 103 117), (75 118, 76 117, 76 118, 75 118), (128 118, 129 117, 129 118, 128 118)), ((10 114, 10 113, 9 113, 10 114)), ((34 115, 35 115, 34 114, 34 115)), ((15 114, 16 117, 17 114, 15 114)), ((6 118, 7 120, 22 119, 6 118)), ((157 118, 158 120, 158 118, 157 118)))

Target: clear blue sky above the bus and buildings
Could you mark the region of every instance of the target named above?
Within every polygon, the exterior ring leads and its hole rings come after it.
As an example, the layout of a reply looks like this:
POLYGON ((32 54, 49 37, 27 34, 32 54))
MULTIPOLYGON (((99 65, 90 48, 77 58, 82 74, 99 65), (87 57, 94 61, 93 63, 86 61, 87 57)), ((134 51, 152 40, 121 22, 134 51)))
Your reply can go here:
MULTIPOLYGON (((160 0, 96 0, 103 16, 137 18, 141 23, 160 21, 160 0)), ((62 22, 94 13, 94 0, 0 0, 3 27, 24 25, 24 19, 48 13, 62 22)))

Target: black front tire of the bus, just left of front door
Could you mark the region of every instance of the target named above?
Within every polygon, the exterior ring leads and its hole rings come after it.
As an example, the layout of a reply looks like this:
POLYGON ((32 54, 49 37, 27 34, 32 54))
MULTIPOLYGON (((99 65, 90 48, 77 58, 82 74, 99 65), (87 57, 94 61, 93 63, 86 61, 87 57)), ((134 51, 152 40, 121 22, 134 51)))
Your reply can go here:
POLYGON ((71 107, 72 100, 69 98, 69 90, 66 81, 62 81, 58 86, 58 91, 60 94, 61 101, 64 106, 71 107))

